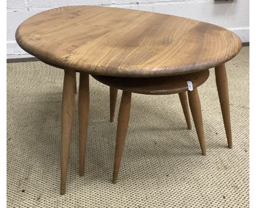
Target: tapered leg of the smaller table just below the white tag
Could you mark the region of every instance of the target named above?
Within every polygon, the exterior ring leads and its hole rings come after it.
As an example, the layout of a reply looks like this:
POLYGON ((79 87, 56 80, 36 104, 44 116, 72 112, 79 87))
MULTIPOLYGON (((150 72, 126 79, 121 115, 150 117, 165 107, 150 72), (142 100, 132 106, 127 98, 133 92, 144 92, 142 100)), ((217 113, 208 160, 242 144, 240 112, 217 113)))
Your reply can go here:
POLYGON ((205 146, 205 136, 203 133, 203 123, 202 123, 202 112, 199 96, 197 93, 197 88, 194 88, 192 91, 188 91, 189 97, 189 106, 191 109, 191 114, 194 120, 197 137, 202 150, 202 155, 206 155, 206 146, 205 146))

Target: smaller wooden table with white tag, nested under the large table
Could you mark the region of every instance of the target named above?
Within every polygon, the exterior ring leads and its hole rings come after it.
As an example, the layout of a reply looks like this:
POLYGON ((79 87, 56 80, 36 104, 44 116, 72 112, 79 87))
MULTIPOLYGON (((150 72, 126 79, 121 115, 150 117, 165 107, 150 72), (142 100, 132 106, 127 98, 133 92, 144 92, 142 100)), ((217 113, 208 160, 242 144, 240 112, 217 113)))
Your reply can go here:
MULTIPOLYGON (((201 104, 199 95, 197 93, 197 87, 207 80, 209 77, 209 70, 169 77, 136 78, 95 75, 93 75, 93 77, 101 83, 109 85, 110 89, 116 88, 123 90, 118 113, 117 139, 115 143, 115 162, 112 180, 114 184, 117 183, 121 158, 123 155, 126 132, 130 119, 132 93, 146 95, 170 95, 178 93, 180 97, 182 96, 187 99, 187 95, 185 93, 188 91, 189 106, 194 120, 197 137, 201 146, 202 155, 206 155, 201 104)), ((186 117, 185 112, 184 114, 186 117)))

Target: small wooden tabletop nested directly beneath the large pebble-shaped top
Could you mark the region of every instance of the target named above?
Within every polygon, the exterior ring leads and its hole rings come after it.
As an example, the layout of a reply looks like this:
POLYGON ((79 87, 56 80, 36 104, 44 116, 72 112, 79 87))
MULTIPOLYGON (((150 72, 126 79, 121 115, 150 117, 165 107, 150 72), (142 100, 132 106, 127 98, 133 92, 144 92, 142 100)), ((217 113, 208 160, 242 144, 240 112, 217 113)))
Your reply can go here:
POLYGON ((209 70, 168 77, 111 77, 92 75, 110 87, 145 95, 168 95, 188 90, 187 81, 199 87, 209 77, 209 70))

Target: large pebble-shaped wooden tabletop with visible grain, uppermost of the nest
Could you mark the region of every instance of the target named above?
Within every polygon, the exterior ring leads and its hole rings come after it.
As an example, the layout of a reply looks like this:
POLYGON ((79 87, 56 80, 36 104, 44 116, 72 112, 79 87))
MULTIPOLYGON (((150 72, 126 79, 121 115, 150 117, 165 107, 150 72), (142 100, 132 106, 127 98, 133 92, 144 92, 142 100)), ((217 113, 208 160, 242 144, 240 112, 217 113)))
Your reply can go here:
POLYGON ((232 59, 241 40, 228 29, 131 9, 71 6, 21 23, 16 40, 60 68, 92 75, 158 77, 210 69, 232 59))

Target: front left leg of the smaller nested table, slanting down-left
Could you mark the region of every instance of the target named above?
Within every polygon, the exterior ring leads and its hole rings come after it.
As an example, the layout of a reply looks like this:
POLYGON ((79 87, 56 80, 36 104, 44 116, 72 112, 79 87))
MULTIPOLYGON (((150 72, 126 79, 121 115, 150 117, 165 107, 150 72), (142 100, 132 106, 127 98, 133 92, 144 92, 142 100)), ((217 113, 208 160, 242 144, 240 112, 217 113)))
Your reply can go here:
POLYGON ((129 124, 131 108, 131 93, 123 91, 119 113, 118 113, 118 126, 117 126, 117 139, 115 143, 115 162, 113 172, 113 183, 117 183, 121 158, 124 149, 126 132, 129 124))

